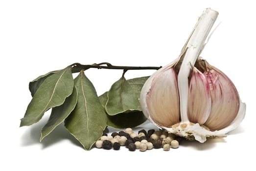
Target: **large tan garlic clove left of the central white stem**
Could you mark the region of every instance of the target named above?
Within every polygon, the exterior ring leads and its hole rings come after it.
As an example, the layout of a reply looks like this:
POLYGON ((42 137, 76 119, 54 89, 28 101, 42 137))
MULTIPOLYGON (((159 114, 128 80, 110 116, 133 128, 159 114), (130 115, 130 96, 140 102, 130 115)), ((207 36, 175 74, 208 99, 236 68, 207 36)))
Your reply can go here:
POLYGON ((158 125, 171 127, 179 122, 180 102, 174 67, 166 67, 152 80, 146 103, 151 119, 158 125))

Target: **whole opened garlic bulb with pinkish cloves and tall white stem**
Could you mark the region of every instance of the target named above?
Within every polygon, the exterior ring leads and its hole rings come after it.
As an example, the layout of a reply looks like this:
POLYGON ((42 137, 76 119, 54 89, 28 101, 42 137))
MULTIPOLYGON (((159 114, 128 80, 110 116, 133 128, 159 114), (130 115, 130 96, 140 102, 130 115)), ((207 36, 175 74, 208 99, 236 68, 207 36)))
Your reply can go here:
POLYGON ((159 128, 201 143, 224 137, 245 116, 246 105, 232 81, 199 57, 218 12, 206 9, 180 56, 143 85, 140 104, 159 128))

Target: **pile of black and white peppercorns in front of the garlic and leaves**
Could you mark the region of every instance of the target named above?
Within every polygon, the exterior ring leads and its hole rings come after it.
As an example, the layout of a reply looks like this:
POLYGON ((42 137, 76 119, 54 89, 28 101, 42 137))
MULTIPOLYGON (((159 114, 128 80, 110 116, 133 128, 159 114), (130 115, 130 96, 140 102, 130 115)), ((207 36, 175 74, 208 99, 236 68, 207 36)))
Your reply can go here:
POLYGON ((182 138, 167 131, 149 129, 147 132, 142 129, 138 134, 133 132, 132 128, 126 128, 125 131, 113 132, 110 136, 106 133, 95 143, 96 148, 106 150, 119 150, 120 146, 126 146, 130 151, 140 149, 140 151, 151 150, 153 148, 168 151, 170 148, 177 149, 182 138))

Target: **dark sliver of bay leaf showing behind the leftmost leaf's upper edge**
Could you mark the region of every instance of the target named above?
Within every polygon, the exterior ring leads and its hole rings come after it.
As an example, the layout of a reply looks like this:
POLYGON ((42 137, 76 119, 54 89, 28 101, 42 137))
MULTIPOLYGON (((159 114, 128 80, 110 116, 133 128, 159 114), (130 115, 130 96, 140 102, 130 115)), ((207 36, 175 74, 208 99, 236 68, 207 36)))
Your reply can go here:
POLYGON ((28 85, 31 96, 33 97, 35 95, 37 89, 40 87, 40 85, 42 85, 42 83, 47 79, 47 77, 51 76, 52 74, 55 74, 58 71, 59 70, 48 72, 47 74, 41 75, 33 81, 31 81, 28 85))

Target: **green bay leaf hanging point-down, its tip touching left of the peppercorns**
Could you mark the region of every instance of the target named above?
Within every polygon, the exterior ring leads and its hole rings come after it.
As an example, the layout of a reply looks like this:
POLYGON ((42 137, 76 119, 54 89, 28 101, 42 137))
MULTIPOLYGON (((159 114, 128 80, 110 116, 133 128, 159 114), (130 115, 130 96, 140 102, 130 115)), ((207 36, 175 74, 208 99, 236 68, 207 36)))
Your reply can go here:
POLYGON ((107 117, 93 84, 83 71, 74 79, 74 85, 78 92, 77 104, 65 120, 65 127, 86 150, 90 150, 106 128, 107 117))

